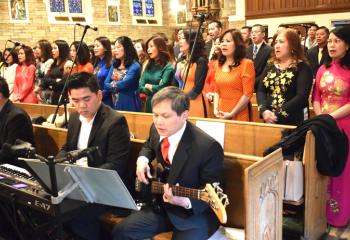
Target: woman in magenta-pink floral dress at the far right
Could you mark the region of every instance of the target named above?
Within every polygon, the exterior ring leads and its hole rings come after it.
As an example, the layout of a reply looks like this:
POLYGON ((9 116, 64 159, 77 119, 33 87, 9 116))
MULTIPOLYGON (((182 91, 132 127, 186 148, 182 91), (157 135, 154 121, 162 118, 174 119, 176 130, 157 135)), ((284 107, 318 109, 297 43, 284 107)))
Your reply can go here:
MULTIPOLYGON (((337 27, 328 39, 331 62, 319 68, 313 93, 316 115, 330 114, 350 138, 350 27, 337 27)), ((342 174, 330 177, 327 221, 336 227, 350 220, 350 154, 342 174)))

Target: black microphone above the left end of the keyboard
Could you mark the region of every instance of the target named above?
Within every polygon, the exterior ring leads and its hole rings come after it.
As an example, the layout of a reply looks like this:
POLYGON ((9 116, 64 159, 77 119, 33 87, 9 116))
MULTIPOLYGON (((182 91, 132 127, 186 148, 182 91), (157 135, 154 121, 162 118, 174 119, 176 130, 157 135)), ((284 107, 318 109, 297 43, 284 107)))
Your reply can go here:
POLYGON ((4 143, 2 145, 3 150, 14 157, 34 158, 35 148, 31 143, 16 139, 15 144, 4 143))

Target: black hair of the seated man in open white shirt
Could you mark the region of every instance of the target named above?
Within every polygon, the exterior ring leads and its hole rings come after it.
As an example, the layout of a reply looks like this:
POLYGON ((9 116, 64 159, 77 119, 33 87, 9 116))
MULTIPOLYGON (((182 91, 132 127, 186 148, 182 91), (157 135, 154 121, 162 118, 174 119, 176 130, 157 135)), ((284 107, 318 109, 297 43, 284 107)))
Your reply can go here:
POLYGON ((67 84, 68 92, 70 92, 72 89, 86 87, 93 93, 97 93, 98 90, 100 90, 97 78, 93 74, 87 72, 74 74, 67 84))

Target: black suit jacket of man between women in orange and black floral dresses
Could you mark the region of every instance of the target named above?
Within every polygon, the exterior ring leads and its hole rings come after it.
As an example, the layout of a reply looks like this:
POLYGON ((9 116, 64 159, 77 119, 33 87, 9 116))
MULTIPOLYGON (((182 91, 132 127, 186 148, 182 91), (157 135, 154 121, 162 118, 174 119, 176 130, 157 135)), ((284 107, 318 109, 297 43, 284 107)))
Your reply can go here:
MULTIPOLYGON (((247 57, 251 60, 253 60, 253 48, 254 48, 254 44, 249 45, 247 48, 247 57)), ((258 88, 261 78, 263 77, 262 75, 263 75, 265 66, 267 64, 267 61, 270 58, 271 51, 272 51, 272 48, 263 42, 261 44, 261 47, 259 48, 258 53, 256 54, 255 59, 253 60, 254 69, 255 69, 255 84, 254 84, 255 91, 258 88)))

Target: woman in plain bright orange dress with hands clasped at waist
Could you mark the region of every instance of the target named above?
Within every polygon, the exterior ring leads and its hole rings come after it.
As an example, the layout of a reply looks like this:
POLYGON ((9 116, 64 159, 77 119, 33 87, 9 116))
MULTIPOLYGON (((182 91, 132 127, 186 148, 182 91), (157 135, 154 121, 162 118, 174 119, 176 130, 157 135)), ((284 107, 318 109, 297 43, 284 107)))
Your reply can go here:
POLYGON ((249 121, 248 104, 254 92, 254 64, 245 58, 245 45, 236 29, 220 37, 221 55, 215 63, 214 115, 249 121))

